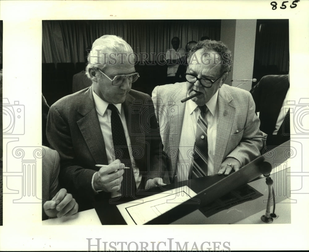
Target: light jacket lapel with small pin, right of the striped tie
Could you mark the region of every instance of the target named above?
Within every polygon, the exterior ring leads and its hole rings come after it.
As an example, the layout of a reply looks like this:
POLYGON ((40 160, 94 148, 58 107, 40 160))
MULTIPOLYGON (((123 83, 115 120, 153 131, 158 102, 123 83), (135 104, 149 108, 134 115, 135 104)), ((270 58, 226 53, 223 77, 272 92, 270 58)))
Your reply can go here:
POLYGON ((218 172, 226 150, 227 141, 231 135, 231 128, 235 117, 235 107, 231 105, 232 97, 225 91, 219 89, 218 95, 218 123, 217 139, 214 157, 214 173, 218 172))

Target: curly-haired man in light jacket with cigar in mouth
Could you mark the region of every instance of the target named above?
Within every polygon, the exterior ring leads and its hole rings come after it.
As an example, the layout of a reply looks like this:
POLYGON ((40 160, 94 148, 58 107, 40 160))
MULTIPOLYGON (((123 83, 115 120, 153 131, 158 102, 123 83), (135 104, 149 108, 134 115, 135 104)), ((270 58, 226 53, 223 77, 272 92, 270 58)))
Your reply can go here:
POLYGON ((155 87, 170 182, 228 175, 260 156, 265 137, 251 94, 223 84, 231 66, 226 45, 200 41, 188 55, 187 82, 155 87))

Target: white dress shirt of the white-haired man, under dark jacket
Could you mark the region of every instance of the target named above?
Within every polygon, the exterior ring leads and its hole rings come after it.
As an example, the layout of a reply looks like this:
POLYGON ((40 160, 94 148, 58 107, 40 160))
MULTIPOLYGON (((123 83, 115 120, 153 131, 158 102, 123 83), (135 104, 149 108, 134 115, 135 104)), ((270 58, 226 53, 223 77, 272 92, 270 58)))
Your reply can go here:
MULTIPOLYGON (((92 88, 92 87, 91 87, 92 88)), ((99 123, 100 123, 100 127, 101 127, 101 131, 102 131, 102 135, 104 138, 104 143, 105 143, 105 151, 106 151, 106 155, 107 155, 107 160, 108 160, 108 164, 111 164, 114 160, 115 160, 115 156, 113 153, 113 139, 112 139, 112 127, 111 127, 111 114, 112 111, 110 109, 107 109, 108 106, 108 102, 102 100, 94 91, 92 88, 92 95, 93 95, 93 99, 95 101, 95 109, 99 118, 99 123)), ((129 137, 129 131, 127 128, 127 124, 125 121, 125 113, 123 111, 123 107, 120 104, 114 104, 116 106, 116 108, 119 111, 119 115, 120 115, 120 119, 122 122, 122 126, 123 129, 125 131, 125 139, 127 141, 127 145, 128 145, 128 149, 129 149, 129 154, 130 154, 130 158, 131 158, 131 162, 132 162, 132 167, 133 167, 133 173, 134 173, 134 179, 135 179, 135 183, 136 183, 136 187, 138 188, 139 184, 141 183, 142 180, 142 176, 139 174, 139 169, 138 167, 135 165, 135 161, 132 157, 132 148, 131 148, 131 141, 130 141, 130 137, 129 137)), ((94 176, 95 174, 92 176, 92 188, 95 192, 97 192, 94 189, 94 185, 93 185, 93 180, 94 180, 94 176)), ((120 195, 119 191, 116 192, 112 192, 111 193, 111 197, 118 197, 120 195)))

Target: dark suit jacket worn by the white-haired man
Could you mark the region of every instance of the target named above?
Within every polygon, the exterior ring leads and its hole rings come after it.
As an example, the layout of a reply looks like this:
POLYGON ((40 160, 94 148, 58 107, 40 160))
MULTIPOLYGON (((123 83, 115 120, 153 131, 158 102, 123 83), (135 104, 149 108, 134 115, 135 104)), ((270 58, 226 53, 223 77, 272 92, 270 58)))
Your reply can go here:
MULTIPOLYGON (((150 172, 165 169, 166 164, 153 103, 149 95, 131 90, 122 105, 132 155, 142 175, 138 189, 143 189, 150 172)), ((91 208, 95 196, 91 180, 99 170, 95 164, 108 164, 92 87, 65 96, 50 107, 46 135, 60 155, 61 186, 73 194, 80 211, 91 208)), ((110 193, 100 194, 110 198, 110 193)))

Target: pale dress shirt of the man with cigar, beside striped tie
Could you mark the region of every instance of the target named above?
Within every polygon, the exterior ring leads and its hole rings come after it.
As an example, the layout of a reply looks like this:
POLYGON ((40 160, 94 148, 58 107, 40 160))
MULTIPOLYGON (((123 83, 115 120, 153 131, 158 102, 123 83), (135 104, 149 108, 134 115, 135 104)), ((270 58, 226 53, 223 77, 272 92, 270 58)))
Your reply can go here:
MULTIPOLYGON (((217 139, 217 100, 218 90, 206 103, 206 122, 207 122, 207 143, 208 143, 208 175, 214 174, 214 154, 217 139)), ((197 119, 201 111, 196 103, 192 100, 186 102, 184 109, 184 121, 182 124, 180 142, 178 148, 178 159, 176 161, 177 180, 187 180, 191 158, 188 153, 193 152, 195 143, 195 134, 197 128, 197 119)))

